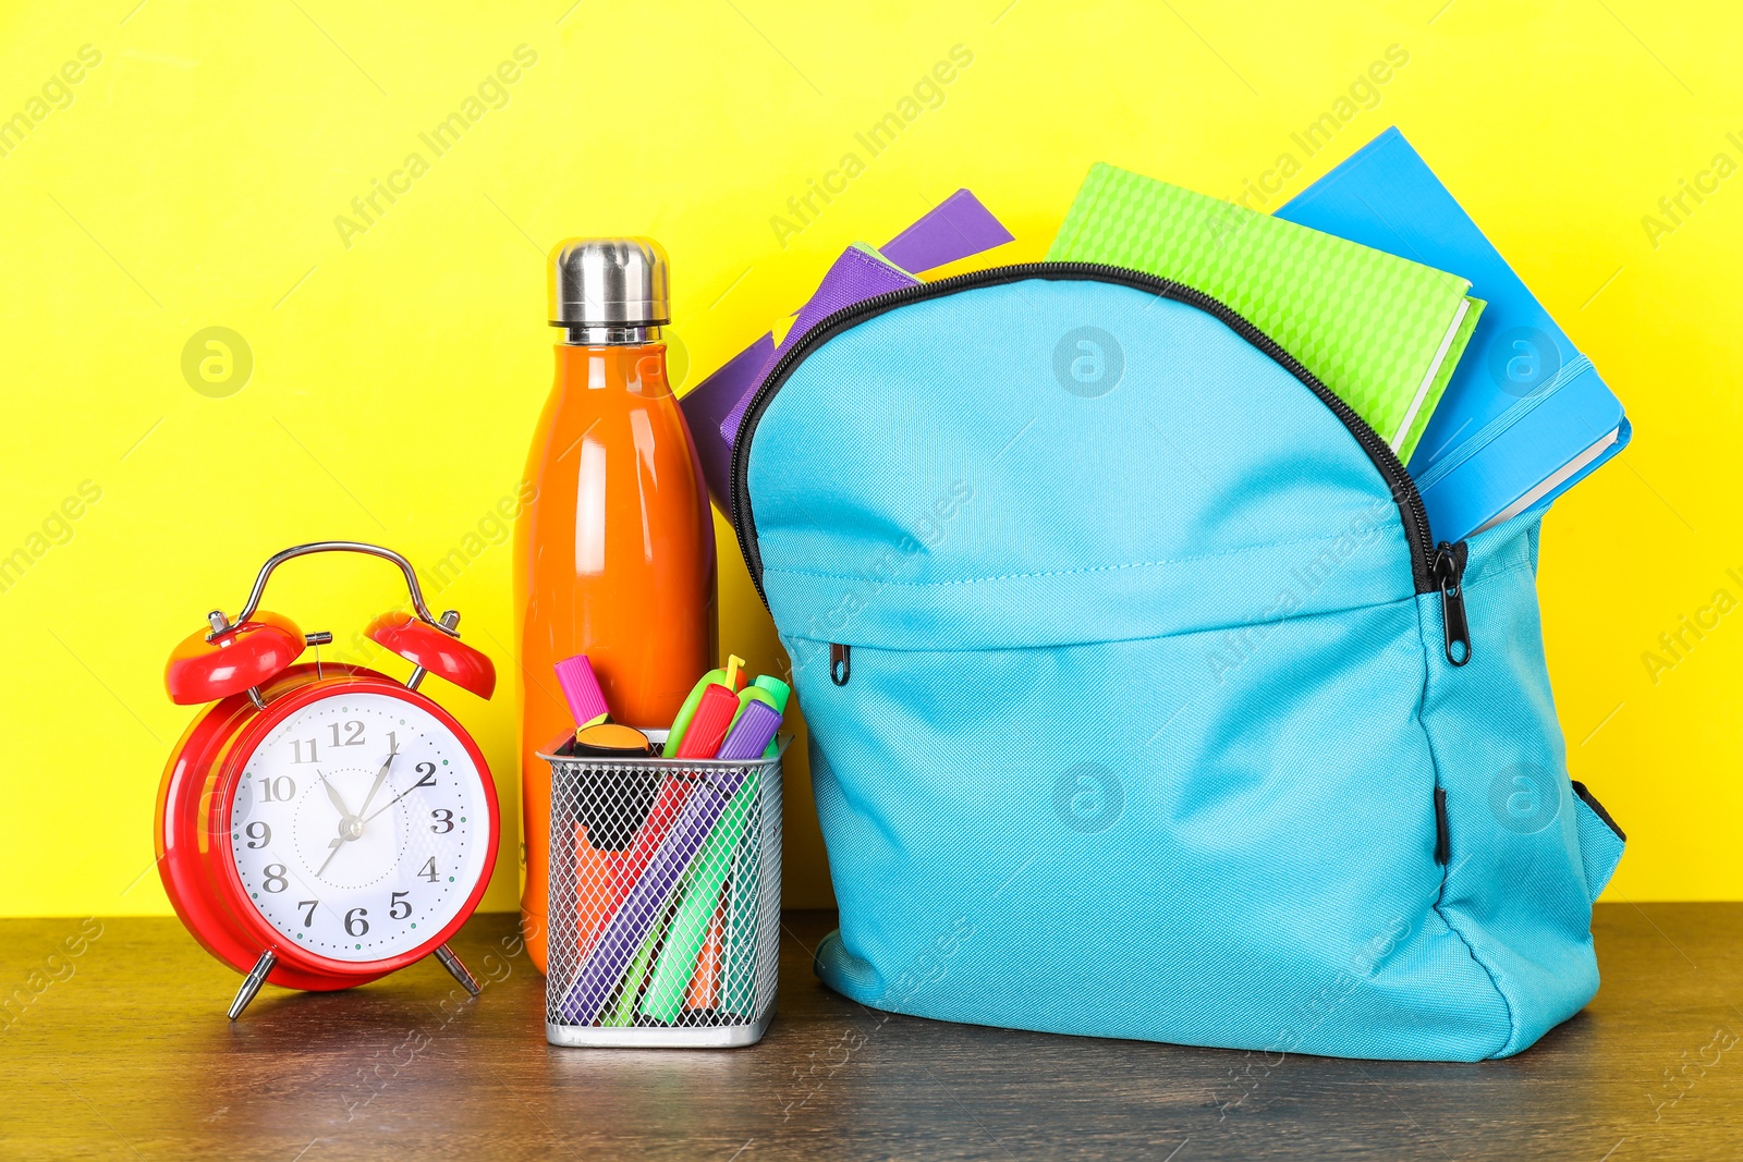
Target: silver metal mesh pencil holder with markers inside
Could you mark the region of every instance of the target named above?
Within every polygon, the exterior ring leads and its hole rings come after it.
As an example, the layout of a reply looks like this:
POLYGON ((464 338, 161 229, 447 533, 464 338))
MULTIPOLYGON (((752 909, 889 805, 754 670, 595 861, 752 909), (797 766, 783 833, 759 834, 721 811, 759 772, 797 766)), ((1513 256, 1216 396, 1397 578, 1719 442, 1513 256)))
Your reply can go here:
MULTIPOLYGON (((654 744, 664 732, 648 732, 654 744)), ((781 754, 551 763, 546 1040, 730 1047, 774 1016, 781 754)))

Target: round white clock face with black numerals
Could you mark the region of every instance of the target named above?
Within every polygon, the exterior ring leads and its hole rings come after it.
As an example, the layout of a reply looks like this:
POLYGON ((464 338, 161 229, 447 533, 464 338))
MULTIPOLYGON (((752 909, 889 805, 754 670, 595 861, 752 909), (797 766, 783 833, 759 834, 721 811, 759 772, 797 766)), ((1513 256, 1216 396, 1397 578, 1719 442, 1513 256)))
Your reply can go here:
POLYGON ((418 704, 335 692, 274 726, 242 768, 230 848, 249 902, 331 960, 415 949, 483 875, 478 767, 418 704))

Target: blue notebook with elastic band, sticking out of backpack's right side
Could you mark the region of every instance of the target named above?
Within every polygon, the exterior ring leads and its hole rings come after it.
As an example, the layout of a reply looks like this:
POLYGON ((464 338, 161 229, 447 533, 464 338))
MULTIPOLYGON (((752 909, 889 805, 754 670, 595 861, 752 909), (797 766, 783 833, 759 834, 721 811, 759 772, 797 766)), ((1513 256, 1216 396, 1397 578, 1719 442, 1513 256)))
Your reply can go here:
POLYGON ((1462 275, 1489 303, 1410 456, 1436 540, 1544 509, 1628 444, 1628 416, 1591 361, 1398 129, 1276 216, 1462 275))

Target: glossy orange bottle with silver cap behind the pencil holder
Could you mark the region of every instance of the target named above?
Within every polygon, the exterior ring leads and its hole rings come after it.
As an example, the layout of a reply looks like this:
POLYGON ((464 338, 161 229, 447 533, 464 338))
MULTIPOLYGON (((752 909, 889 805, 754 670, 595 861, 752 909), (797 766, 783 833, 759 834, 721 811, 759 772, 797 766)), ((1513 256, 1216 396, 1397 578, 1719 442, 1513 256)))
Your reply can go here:
POLYGON ((521 728, 521 927, 546 967, 551 765, 573 730, 553 665, 586 653, 619 723, 671 725, 716 657, 715 523, 666 380, 666 251, 570 239, 551 253, 556 383, 539 416, 514 528, 521 728))

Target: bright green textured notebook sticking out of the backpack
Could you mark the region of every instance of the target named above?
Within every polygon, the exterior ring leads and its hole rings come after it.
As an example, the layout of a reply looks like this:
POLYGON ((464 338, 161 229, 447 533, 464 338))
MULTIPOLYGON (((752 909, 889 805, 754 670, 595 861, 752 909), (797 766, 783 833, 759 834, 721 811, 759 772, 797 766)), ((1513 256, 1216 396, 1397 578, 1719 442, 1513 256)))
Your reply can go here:
POLYGON ((1483 312, 1469 279, 1107 164, 1089 171, 1048 258, 1129 267, 1210 294, 1405 462, 1483 312))

